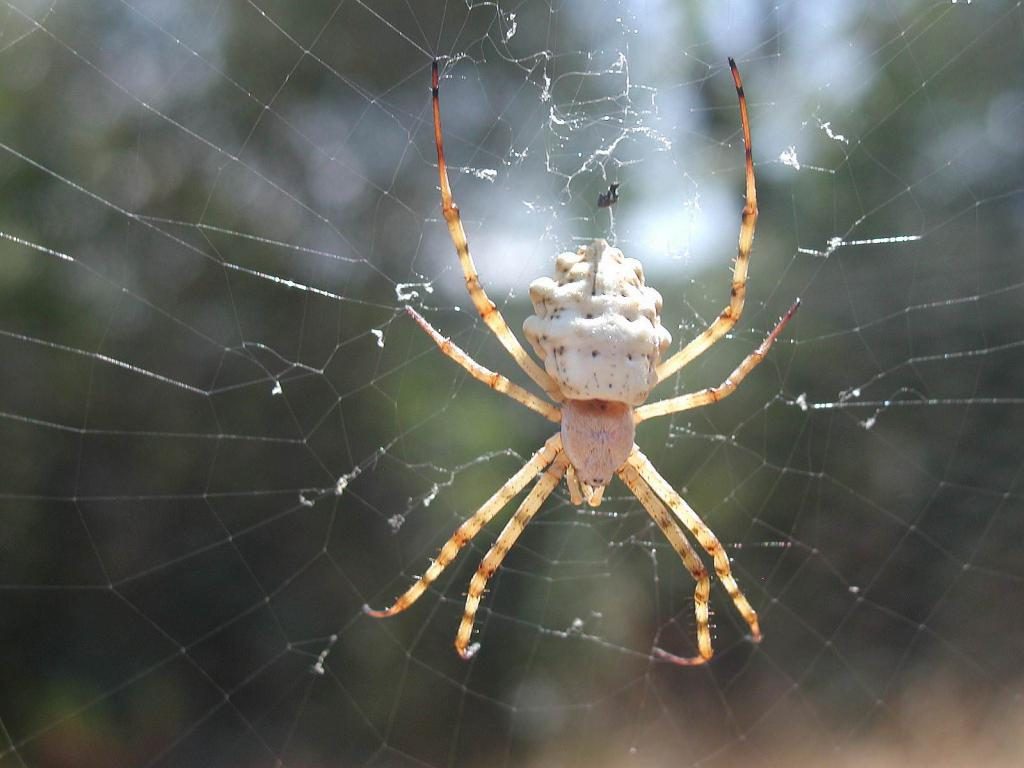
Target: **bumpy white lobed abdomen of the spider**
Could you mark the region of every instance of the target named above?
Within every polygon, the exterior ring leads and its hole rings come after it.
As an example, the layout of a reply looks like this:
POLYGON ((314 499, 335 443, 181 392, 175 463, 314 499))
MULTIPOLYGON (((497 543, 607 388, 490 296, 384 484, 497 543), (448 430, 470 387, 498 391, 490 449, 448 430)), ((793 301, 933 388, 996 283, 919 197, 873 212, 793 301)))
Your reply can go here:
POLYGON ((657 383, 655 369, 672 341, 662 327, 662 295, 644 285, 643 267, 596 240, 555 262, 555 278, 529 286, 536 314, 523 332, 570 399, 639 406, 657 383))

